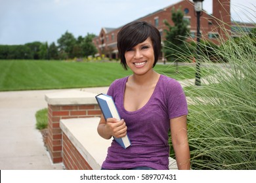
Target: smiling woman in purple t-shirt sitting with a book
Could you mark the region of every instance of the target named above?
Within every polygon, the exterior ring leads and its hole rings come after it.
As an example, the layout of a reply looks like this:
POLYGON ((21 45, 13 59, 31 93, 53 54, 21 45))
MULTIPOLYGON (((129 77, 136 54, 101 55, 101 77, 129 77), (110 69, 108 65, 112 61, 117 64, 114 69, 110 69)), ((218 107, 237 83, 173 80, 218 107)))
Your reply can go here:
POLYGON ((108 90, 123 120, 102 116, 98 133, 104 139, 128 134, 132 145, 124 149, 112 141, 102 169, 169 169, 170 129, 178 168, 190 169, 186 97, 179 82, 153 69, 160 32, 147 22, 132 22, 119 31, 117 48, 123 67, 133 71, 108 90))

